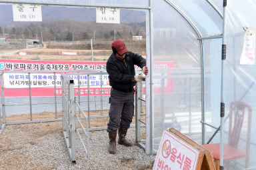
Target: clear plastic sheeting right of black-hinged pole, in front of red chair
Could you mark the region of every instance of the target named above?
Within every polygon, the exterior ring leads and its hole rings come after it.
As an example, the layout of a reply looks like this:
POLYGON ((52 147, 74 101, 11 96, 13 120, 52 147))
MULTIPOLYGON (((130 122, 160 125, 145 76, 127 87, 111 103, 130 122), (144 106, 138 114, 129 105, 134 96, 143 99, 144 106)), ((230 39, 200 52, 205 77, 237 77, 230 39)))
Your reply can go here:
MULTIPOLYGON (((256 169, 256 79, 255 64, 240 64, 243 45, 248 45, 245 30, 255 30, 255 1, 227 1, 225 41, 227 59, 224 61, 223 97, 225 117, 223 124, 224 167, 231 169, 256 169), (227 144, 244 154, 231 161, 225 160, 227 144)), ((252 53, 255 44, 246 49, 252 53)), ((255 59, 255 54, 251 60, 255 59)), ((229 149, 229 155, 231 150, 229 149)), ((235 154, 234 154, 235 155, 235 154)))

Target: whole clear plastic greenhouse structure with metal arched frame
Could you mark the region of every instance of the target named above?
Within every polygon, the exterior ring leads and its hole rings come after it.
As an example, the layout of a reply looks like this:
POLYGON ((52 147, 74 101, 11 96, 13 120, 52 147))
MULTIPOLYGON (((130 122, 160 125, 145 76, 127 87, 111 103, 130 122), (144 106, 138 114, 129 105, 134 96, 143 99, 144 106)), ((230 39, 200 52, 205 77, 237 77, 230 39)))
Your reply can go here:
MULTIPOLYGON (((146 13, 147 154, 174 127, 201 145, 218 144, 220 169, 256 169, 255 1, 19 0, 146 13), (230 147, 243 151, 231 157, 230 147), (226 155, 230 157, 227 158, 226 155), (226 158, 231 161, 225 161, 226 158)), ((206 145, 205 145, 206 146, 206 145)))

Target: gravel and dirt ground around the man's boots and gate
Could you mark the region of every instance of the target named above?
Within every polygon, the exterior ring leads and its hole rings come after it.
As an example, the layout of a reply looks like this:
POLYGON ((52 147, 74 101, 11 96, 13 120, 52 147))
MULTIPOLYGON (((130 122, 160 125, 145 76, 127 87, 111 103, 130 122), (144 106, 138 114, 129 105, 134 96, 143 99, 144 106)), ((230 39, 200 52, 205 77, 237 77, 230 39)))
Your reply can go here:
MULTIPOLYGON (((89 158, 77 138, 77 163, 71 164, 61 129, 61 122, 8 125, 0 136, 0 169, 152 169, 155 156, 137 146, 117 144, 117 153, 109 154, 107 131, 89 133, 89 158)), ((135 128, 127 139, 135 141, 135 128)))

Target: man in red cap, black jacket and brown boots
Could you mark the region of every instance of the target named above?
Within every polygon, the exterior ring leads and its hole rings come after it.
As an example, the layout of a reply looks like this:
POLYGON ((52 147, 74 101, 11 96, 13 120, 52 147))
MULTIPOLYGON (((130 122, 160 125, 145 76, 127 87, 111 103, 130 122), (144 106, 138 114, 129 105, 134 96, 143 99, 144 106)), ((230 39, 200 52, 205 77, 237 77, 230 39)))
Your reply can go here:
POLYGON ((120 145, 127 147, 133 143, 127 141, 125 136, 127 129, 130 127, 134 112, 134 89, 137 81, 142 80, 141 75, 135 75, 134 65, 143 69, 143 73, 147 75, 148 69, 146 60, 127 51, 125 43, 121 39, 112 43, 113 53, 107 60, 107 73, 109 73, 109 83, 111 85, 111 96, 109 97, 109 123, 107 131, 109 132, 109 153, 115 154, 117 129, 120 145))

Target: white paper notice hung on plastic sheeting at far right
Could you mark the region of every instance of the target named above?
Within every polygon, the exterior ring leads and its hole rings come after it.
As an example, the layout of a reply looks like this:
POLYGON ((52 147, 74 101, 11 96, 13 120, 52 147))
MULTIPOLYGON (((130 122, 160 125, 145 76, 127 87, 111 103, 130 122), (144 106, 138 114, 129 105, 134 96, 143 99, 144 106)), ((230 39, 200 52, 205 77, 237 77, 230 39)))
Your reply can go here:
POLYGON ((256 30, 247 30, 243 36, 243 51, 240 58, 241 65, 255 64, 255 33, 256 30))

